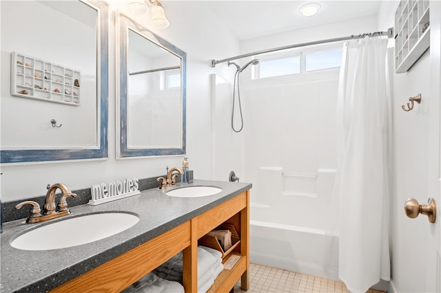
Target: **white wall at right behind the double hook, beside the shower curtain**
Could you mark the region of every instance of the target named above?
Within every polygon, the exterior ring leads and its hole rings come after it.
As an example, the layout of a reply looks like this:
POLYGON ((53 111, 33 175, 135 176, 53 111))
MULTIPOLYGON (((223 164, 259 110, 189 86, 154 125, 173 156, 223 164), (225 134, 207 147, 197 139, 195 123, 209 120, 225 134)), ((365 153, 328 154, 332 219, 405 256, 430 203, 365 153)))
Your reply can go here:
MULTIPOLYGON (((393 26, 399 1, 384 1, 379 28, 393 26)), ((424 239, 430 235, 425 217, 409 219, 404 202, 409 197, 425 200, 429 169, 430 49, 404 74, 393 74, 393 182, 391 210, 391 282, 389 292, 429 292, 430 268, 424 239), (409 112, 401 109, 410 96, 422 94, 420 105, 409 112), (421 255, 420 255, 421 254, 421 255)))

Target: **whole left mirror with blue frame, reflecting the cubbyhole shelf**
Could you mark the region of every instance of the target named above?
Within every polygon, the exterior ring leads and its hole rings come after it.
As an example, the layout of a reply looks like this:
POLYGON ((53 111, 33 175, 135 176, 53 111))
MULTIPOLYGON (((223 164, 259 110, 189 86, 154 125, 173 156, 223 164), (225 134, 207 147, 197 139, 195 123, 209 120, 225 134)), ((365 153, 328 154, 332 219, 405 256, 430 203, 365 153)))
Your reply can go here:
POLYGON ((0 4, 1 164, 107 158, 107 3, 0 4))

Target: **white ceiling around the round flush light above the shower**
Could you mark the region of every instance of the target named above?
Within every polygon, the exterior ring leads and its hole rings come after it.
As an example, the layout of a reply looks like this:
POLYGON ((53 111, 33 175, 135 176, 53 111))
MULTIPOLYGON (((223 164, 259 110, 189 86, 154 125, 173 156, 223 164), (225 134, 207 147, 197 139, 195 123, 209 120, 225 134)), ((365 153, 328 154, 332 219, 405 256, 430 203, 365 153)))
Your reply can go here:
MULTIPOLYGON (((289 32, 316 25, 376 15, 381 0, 311 0, 311 1, 201 1, 223 20, 236 37, 243 41, 269 34, 289 32), (298 12, 305 3, 320 3, 314 17, 298 12)), ((384 0, 383 0, 384 1, 384 0)))

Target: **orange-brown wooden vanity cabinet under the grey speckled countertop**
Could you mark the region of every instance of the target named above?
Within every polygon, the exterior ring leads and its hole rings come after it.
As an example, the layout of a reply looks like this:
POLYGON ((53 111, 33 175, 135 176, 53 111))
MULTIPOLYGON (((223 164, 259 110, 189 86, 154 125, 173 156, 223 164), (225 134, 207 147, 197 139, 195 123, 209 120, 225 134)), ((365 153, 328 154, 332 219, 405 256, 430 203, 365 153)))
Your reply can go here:
MULTIPOLYGON (((240 243, 231 252, 240 255, 240 259, 232 270, 223 270, 219 274, 208 292, 229 292, 238 279, 241 288, 248 290, 249 191, 245 191, 51 292, 120 292, 181 251, 185 292, 197 292, 198 239, 223 222, 233 224, 240 231, 240 243)), ((223 261, 227 261, 231 254, 223 261)))

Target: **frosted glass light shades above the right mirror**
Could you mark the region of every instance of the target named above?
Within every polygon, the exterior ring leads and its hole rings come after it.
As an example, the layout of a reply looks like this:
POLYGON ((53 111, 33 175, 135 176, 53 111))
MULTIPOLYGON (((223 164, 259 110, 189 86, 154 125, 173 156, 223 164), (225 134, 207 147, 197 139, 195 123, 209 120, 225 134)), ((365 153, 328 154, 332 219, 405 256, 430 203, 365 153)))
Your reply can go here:
POLYGON ((167 17, 165 17, 164 8, 158 0, 132 1, 128 4, 129 10, 136 15, 147 14, 149 12, 147 3, 152 5, 150 11, 150 25, 152 25, 152 28, 167 28, 170 22, 167 17))

